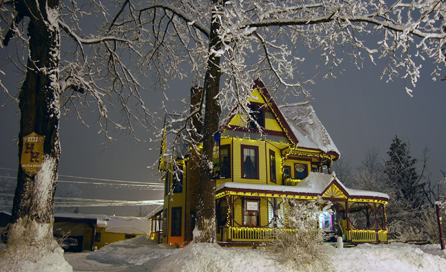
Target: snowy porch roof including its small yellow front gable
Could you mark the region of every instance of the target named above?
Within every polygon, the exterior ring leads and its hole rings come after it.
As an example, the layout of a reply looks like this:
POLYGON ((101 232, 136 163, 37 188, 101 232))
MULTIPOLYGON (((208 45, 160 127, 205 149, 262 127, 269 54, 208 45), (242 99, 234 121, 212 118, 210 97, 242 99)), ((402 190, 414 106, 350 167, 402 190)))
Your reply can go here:
POLYGON ((264 191, 265 193, 287 193, 292 195, 309 195, 309 196, 324 196, 333 198, 336 196, 336 191, 340 191, 338 196, 341 198, 371 198, 389 200, 389 196, 386 193, 379 193, 376 191, 364 191, 355 190, 345 187, 345 185, 336 178, 334 172, 332 175, 323 173, 310 172, 307 178, 304 178, 302 182, 299 182, 295 186, 285 185, 259 185, 239 182, 225 182, 219 187, 217 191, 225 188, 240 189, 240 190, 253 190, 264 191), (328 192, 328 193, 327 193, 328 192), (332 193, 334 192, 334 194, 332 193), (343 196, 343 197, 342 197, 343 196))

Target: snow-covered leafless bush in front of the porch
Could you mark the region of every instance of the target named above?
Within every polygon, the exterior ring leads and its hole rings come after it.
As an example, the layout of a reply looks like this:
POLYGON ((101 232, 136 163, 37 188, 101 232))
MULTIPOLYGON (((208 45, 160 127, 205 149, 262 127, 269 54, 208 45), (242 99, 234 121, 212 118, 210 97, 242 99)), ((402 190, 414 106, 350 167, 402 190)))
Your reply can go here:
POLYGON ((327 229, 318 227, 318 218, 324 211, 331 213, 331 202, 288 200, 283 217, 277 218, 273 241, 269 247, 276 258, 293 261, 304 271, 331 271, 333 247, 324 244, 327 229))

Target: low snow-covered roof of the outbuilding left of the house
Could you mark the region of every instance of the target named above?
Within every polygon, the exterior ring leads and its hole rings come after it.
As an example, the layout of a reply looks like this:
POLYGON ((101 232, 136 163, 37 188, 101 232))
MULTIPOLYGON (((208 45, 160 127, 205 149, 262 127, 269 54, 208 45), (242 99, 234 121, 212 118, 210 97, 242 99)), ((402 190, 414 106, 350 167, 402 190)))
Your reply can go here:
MULTIPOLYGON (((161 206, 162 207, 162 206, 161 206)), ((105 227, 106 232, 111 233, 151 233, 151 220, 134 216, 106 216, 101 214, 81 214, 81 213, 55 213, 58 218, 78 218, 94 219, 97 227, 105 227)))

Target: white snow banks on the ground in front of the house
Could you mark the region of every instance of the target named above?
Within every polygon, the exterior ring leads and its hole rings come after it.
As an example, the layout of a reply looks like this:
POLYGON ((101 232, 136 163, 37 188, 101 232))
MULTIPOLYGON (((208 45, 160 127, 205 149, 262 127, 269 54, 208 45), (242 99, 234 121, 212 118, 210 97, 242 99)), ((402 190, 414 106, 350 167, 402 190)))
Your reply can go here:
MULTIPOLYGON (((360 244, 334 252, 334 271, 446 271, 446 250, 440 250, 439 244, 360 244)), ((65 258, 73 271, 299 271, 293 262, 276 260, 271 251, 229 249, 217 244, 175 249, 155 244, 146 236, 108 244, 91 253, 66 253, 65 258)))

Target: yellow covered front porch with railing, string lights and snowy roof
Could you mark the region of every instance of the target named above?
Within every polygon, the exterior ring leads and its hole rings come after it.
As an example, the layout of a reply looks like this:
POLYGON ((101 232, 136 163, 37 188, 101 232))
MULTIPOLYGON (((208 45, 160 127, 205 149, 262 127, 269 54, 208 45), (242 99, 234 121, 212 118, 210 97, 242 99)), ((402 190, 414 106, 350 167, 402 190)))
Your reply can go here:
MULTIPOLYGON (((346 188, 336 176, 312 173, 295 186, 252 185, 226 182, 217 188, 217 240, 225 243, 262 243, 273 239, 286 202, 322 200, 333 203, 333 213, 323 213, 318 227, 327 229, 335 242, 387 242, 385 193, 346 188)), ((290 229, 289 231, 293 231, 290 229)))

